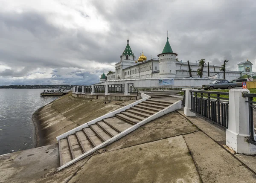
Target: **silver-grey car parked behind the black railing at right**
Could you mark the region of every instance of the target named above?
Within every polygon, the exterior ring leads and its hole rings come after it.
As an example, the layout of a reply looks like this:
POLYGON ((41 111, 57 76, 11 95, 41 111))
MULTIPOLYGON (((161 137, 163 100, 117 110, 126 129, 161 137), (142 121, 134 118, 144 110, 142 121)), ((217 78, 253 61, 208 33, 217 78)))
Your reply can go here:
POLYGON ((230 81, 227 80, 215 80, 210 82, 210 84, 204 84, 202 85, 202 88, 204 90, 213 90, 213 89, 232 89, 234 87, 237 87, 236 83, 230 83, 230 81))

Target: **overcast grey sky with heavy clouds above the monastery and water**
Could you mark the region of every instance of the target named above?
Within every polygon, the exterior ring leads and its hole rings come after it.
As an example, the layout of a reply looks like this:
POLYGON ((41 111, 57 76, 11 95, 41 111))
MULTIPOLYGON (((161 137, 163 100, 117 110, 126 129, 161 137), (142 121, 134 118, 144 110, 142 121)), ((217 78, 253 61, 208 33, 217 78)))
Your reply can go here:
MULTIPOLYGON (((0 0, 0 85, 93 84, 134 55, 256 60, 255 0, 0 0), (206 3, 207 2, 207 3, 206 3)), ((256 64, 253 71, 256 71, 256 64)))

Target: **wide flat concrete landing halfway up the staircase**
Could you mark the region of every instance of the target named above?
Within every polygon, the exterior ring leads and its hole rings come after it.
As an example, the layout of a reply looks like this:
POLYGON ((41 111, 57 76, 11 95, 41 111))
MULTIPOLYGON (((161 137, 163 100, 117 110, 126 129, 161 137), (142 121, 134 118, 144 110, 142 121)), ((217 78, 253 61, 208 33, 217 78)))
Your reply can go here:
POLYGON ((117 117, 102 119, 102 121, 119 133, 125 131, 127 128, 130 128, 132 126, 125 120, 119 119, 117 117))

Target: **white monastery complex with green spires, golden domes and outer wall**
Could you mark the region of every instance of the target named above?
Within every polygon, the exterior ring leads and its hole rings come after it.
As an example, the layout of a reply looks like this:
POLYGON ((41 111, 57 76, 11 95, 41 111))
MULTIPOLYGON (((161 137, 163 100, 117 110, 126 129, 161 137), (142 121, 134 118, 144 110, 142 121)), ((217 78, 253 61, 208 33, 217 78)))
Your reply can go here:
MULTIPOLYGON (((124 81, 137 81, 137 80, 154 80, 150 82, 150 87, 159 87, 159 79, 174 79, 174 87, 187 87, 190 83, 190 87, 200 87, 202 84, 208 84, 212 79, 223 79, 223 72, 220 71, 221 66, 205 64, 203 70, 203 78, 199 78, 197 75, 198 64, 197 62, 189 62, 192 70, 192 77, 189 77, 189 67, 187 62, 176 61, 177 53, 173 52, 171 45, 169 44, 169 38, 167 37, 166 44, 163 51, 158 54, 158 58, 147 60, 147 57, 142 52, 142 55, 136 60, 134 53, 131 50, 129 39, 125 50, 120 56, 120 61, 115 64, 115 72, 109 73, 107 77, 102 74, 100 83, 97 84, 119 84, 124 81), (182 81, 181 81, 182 80, 182 81), (192 81, 194 80, 194 81, 192 81), (181 84, 183 83, 183 84, 181 84), (185 84, 184 84, 185 83, 185 84), (195 84, 192 84, 195 83, 195 84), (195 86, 196 85, 196 86, 195 86)), ((256 75, 252 72, 252 63, 250 61, 244 61, 238 64, 239 71, 226 71, 226 79, 233 80, 243 76, 244 74, 250 74, 250 76, 256 75)), ((137 82, 135 82, 136 85, 137 82)), ((138 84, 140 87, 141 85, 138 84)))

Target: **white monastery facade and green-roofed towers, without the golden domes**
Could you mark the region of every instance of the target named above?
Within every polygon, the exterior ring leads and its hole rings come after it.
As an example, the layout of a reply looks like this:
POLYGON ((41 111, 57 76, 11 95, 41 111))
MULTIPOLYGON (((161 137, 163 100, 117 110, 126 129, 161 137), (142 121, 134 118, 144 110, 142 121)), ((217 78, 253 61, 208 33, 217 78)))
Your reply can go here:
MULTIPOLYGON (((176 61, 177 54, 172 51, 168 38, 163 52, 158 55, 159 58, 153 58, 151 60, 137 62, 131 47, 129 40, 127 40, 127 46, 120 56, 120 61, 115 64, 115 72, 107 75, 107 80, 119 80, 119 79, 137 79, 137 78, 189 78, 189 67, 187 62, 176 61)), ((245 72, 242 68, 248 70, 248 61, 239 63, 239 71, 226 71, 226 79, 233 80, 241 77, 245 72), (247 65, 246 65, 247 64, 247 65), (246 65, 243 66, 243 65, 246 65)), ((192 70, 192 78, 199 78, 197 75, 197 69, 199 63, 189 62, 192 70)), ((250 74, 252 64, 250 64, 250 74)), ((203 70, 203 78, 215 76, 218 74, 220 79, 223 79, 223 72, 220 71, 221 66, 209 65, 208 76, 208 64, 205 64, 203 70)), ((247 72, 248 73, 248 72, 247 72)))

